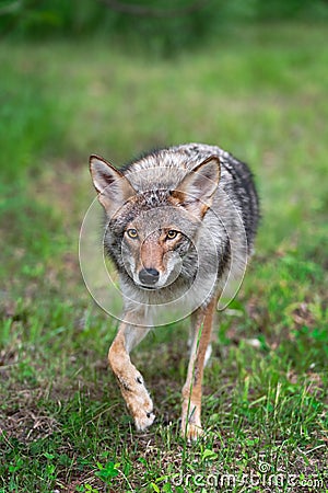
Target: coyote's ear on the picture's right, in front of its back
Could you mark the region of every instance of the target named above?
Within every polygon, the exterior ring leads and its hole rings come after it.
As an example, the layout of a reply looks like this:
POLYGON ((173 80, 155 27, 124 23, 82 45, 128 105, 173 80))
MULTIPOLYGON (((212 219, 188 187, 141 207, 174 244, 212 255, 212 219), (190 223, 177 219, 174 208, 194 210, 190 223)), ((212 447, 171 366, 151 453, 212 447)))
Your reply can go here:
POLYGON ((220 181, 220 160, 216 156, 206 159, 188 173, 172 192, 172 196, 186 209, 202 218, 212 204, 220 181))

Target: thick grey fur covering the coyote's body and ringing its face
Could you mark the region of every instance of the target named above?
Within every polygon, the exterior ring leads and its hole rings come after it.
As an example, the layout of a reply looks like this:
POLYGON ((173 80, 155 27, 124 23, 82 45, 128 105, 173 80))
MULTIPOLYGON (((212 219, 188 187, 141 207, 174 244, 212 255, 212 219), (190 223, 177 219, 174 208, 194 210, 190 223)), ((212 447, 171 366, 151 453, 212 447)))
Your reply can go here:
POLYGON ((137 198, 107 215, 104 245, 119 272, 122 293, 128 293, 127 307, 133 302, 166 306, 180 299, 190 302, 192 310, 207 305, 227 279, 243 276, 259 218, 258 198, 246 164, 219 147, 188 144, 152 151, 120 171, 137 198), (211 157, 220 160, 219 186, 204 217, 190 218, 184 207, 172 206, 171 194, 190 171, 211 157), (175 252, 179 255, 179 274, 173 272, 174 282, 154 290, 138 286, 124 240, 131 222, 145 236, 172 223, 185 233, 175 252))

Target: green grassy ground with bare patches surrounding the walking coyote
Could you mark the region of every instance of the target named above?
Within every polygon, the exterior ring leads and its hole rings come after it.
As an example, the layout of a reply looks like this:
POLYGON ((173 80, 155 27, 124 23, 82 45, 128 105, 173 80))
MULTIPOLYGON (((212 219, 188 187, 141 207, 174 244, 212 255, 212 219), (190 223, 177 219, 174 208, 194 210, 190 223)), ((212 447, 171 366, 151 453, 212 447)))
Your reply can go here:
POLYGON ((327 488, 326 27, 224 34, 171 60, 95 41, 1 45, 1 492, 327 488), (117 324, 83 285, 78 237, 91 152, 122 163, 192 140, 251 164, 263 217, 220 314, 207 435, 188 447, 188 322, 132 355, 157 416, 138 434, 106 365, 117 324))

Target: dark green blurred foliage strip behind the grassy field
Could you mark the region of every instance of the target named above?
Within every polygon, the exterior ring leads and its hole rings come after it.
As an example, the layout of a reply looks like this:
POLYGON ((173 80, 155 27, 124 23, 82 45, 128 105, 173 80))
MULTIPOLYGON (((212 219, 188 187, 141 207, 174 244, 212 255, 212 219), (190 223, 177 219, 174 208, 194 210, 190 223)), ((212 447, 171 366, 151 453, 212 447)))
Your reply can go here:
POLYGON ((2 0, 1 30, 30 39, 99 36, 174 54, 227 24, 325 22, 324 0, 2 0))

